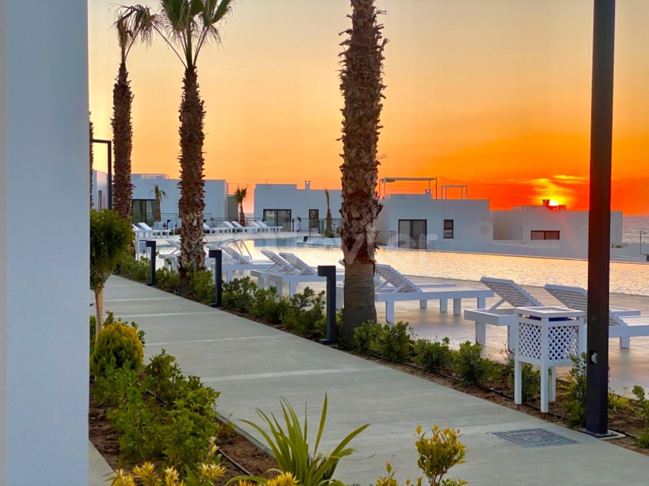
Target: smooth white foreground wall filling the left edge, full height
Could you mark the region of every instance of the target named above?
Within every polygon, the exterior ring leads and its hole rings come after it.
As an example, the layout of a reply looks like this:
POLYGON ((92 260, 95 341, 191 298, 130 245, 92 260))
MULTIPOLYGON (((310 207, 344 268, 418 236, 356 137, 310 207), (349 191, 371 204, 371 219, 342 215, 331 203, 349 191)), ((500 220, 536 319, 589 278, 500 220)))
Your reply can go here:
POLYGON ((3 485, 88 483, 87 26, 86 0, 0 0, 3 485))

